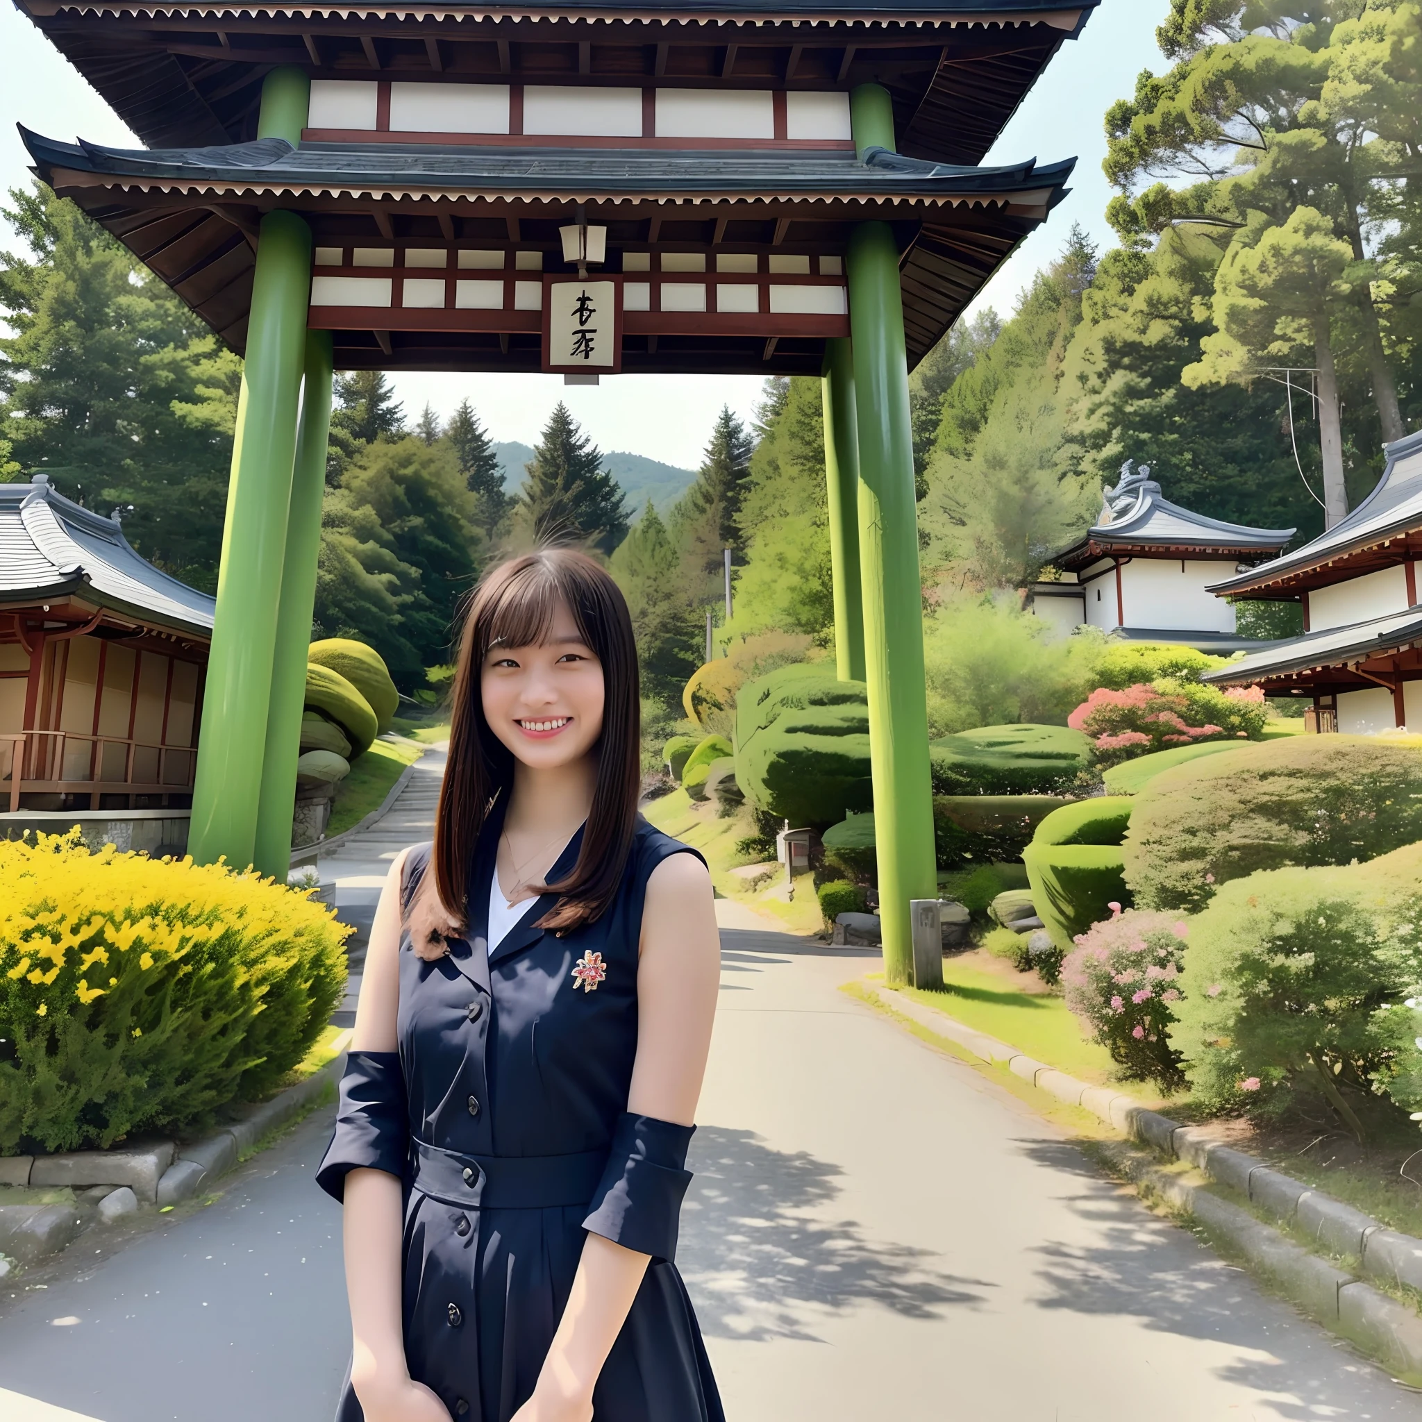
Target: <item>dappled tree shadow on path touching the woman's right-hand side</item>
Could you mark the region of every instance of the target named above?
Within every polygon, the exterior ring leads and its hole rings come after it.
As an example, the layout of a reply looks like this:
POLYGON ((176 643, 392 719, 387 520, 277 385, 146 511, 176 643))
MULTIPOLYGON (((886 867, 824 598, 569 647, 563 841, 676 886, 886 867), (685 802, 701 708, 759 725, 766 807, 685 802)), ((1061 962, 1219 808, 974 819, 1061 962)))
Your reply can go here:
POLYGON ((825 1219, 840 1189, 836 1165, 722 1126, 701 1126, 691 1155, 677 1264, 711 1337, 818 1341, 813 1313, 872 1303, 939 1318, 950 1304, 983 1300, 971 1290, 988 1285, 941 1273, 931 1251, 825 1219))

